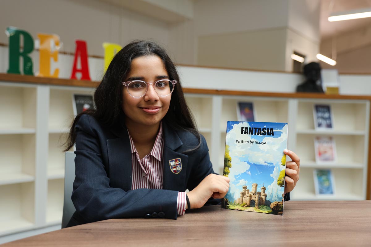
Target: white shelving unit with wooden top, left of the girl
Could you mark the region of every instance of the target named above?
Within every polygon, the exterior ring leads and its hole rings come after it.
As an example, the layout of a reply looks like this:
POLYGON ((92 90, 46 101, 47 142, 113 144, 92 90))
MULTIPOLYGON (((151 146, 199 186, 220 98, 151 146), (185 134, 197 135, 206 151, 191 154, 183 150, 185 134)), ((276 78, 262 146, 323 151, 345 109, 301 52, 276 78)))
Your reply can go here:
POLYGON ((61 224, 72 94, 93 91, 0 82, 0 236, 61 224))

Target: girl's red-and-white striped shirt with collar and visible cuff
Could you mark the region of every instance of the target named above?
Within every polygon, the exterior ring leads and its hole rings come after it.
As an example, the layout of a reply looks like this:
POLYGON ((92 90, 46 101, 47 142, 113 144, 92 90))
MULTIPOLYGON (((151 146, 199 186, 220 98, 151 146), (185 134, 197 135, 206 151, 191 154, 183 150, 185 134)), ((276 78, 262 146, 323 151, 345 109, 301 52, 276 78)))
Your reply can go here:
MULTIPOLYGON (((162 136, 162 124, 160 122, 160 130, 158 131, 155 144, 149 154, 142 159, 139 158, 137 149, 129 134, 131 146, 131 160, 132 160, 132 181, 131 189, 150 188, 161 190, 164 186, 163 171, 164 166, 162 162, 162 154, 164 150, 164 137, 162 136)), ((184 215, 186 201, 186 193, 179 192, 177 198, 177 212, 179 215, 184 215)))

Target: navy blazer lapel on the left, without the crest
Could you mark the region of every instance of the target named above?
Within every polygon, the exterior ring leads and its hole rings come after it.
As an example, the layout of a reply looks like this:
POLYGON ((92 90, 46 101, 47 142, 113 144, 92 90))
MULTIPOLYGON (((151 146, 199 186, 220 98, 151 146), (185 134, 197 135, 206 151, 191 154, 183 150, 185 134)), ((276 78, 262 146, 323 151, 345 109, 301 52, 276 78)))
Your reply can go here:
POLYGON ((125 126, 111 130, 119 138, 107 139, 110 186, 131 190, 131 147, 125 126))

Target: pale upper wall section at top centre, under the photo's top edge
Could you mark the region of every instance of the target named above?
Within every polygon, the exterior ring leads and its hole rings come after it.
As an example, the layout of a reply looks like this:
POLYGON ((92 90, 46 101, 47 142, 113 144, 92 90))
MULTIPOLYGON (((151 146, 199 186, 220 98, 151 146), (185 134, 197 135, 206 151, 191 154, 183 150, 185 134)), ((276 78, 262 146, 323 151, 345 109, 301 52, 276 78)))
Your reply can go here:
POLYGON ((196 1, 195 31, 207 36, 286 27, 288 6, 288 0, 196 1))

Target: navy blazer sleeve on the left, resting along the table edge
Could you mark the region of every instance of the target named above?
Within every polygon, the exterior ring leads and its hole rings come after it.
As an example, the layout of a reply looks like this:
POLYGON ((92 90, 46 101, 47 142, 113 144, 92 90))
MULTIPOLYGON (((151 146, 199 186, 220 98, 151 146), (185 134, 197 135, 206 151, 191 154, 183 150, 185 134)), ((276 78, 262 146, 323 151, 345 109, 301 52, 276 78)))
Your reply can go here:
POLYGON ((99 131, 92 129, 89 118, 83 115, 76 124, 76 178, 71 198, 77 213, 86 222, 144 217, 154 212, 164 212, 165 218, 176 219, 178 191, 145 188, 124 191, 109 186, 99 131))

